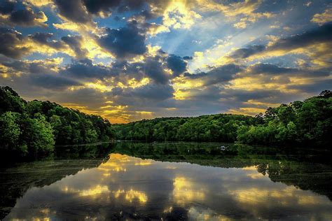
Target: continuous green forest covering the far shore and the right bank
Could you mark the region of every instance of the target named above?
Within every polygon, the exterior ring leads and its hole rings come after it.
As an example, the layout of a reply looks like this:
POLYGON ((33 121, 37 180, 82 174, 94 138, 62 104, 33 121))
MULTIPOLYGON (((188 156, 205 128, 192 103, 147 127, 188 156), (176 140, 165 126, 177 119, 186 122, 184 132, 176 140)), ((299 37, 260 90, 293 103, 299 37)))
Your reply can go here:
POLYGON ((263 145, 332 144, 332 92, 268 108, 255 117, 217 114, 115 124, 116 138, 137 141, 240 141, 263 145))

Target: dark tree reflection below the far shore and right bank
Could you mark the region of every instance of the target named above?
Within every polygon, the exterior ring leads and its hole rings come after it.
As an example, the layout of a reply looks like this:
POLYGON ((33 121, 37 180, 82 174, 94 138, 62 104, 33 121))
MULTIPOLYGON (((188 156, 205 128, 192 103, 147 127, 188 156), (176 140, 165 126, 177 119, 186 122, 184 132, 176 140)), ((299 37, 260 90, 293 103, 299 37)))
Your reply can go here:
POLYGON ((217 143, 118 143, 112 149, 143 159, 188 162, 202 166, 243 168, 256 166, 273 182, 312 190, 332 200, 331 153, 324 150, 280 149, 217 143))

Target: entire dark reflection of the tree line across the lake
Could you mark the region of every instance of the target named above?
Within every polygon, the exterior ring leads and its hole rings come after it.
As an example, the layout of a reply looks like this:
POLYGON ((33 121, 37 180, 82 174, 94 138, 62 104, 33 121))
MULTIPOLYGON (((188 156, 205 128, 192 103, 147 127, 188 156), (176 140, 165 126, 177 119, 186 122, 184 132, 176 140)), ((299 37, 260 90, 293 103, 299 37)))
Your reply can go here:
POLYGON ((0 219, 30 187, 50 185, 81 169, 99 166, 108 160, 106 156, 110 151, 161 162, 188 162, 223 168, 256 166, 259 173, 267 174, 274 182, 295 185, 301 190, 312 190, 332 199, 329 152, 289 152, 237 143, 102 143, 64 146, 57 153, 58 158, 0 169, 0 219), (221 145, 225 145, 226 150, 222 150, 221 145))

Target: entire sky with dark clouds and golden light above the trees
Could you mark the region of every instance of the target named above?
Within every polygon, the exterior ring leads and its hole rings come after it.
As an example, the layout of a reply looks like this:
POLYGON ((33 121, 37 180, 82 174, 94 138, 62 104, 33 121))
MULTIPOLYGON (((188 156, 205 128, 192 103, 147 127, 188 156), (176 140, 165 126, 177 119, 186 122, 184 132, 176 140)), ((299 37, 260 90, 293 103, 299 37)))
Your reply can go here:
POLYGON ((0 85, 111 123, 256 115, 331 72, 331 0, 0 0, 0 85))

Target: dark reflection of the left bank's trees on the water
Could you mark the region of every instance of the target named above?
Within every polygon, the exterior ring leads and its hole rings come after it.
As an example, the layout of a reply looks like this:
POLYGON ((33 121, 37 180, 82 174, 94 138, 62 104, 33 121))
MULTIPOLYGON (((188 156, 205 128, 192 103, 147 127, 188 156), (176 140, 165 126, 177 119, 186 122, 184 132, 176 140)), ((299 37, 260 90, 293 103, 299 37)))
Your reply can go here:
POLYGON ((0 220, 3 219, 16 200, 22 197, 31 187, 43 187, 61 180, 65 176, 74 175, 82 169, 89 169, 106 162, 101 146, 88 145, 73 147, 66 159, 50 158, 44 161, 25 162, 15 166, 2 166, 0 169, 0 220), (89 150, 89 151, 88 151, 89 150), (102 152, 101 152, 102 151, 102 152))

